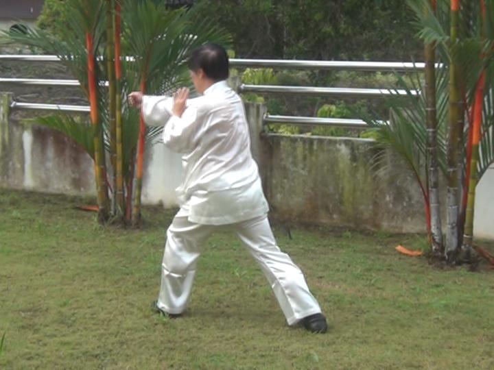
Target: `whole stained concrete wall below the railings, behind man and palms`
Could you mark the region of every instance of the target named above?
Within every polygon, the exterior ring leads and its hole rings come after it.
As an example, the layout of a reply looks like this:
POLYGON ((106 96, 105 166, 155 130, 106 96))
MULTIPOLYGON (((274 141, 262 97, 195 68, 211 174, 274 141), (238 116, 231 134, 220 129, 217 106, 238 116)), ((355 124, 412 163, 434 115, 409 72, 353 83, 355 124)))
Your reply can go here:
MULTIPOLYGON (((371 167, 377 153, 373 140, 278 134, 258 140, 263 108, 248 105, 246 111, 273 217, 388 232, 425 231, 422 195, 394 154, 384 153, 385 169, 371 167)), ((17 114, 2 119, 4 112, 0 105, 0 186, 95 194, 93 163, 82 149, 57 132, 23 125, 17 114)), ((180 156, 164 145, 148 147, 143 203, 176 206, 174 188, 181 176, 180 156)), ((493 188, 494 168, 477 188, 474 230, 479 238, 494 239, 493 188)))

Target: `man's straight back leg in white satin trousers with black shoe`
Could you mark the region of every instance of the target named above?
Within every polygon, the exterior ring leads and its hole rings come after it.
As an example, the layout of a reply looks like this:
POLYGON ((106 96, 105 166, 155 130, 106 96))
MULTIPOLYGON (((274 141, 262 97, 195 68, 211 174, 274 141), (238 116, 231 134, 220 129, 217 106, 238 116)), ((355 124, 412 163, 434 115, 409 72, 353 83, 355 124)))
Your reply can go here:
POLYGON ((303 320, 308 330, 325 332, 327 325, 318 302, 310 293, 301 269, 277 246, 266 215, 235 224, 235 231, 261 265, 288 325, 303 320), (311 328, 312 321, 320 321, 320 325, 316 323, 311 328))

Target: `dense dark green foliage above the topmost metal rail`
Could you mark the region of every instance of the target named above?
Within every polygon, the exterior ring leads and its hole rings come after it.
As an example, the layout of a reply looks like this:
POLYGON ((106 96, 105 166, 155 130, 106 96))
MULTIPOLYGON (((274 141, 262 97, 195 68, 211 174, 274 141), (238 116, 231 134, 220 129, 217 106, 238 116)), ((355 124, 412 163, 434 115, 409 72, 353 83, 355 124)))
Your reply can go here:
MULTIPOLYGON (((167 3, 167 1, 155 1, 167 3)), ((46 0, 38 25, 63 37, 64 0, 46 0)), ((239 58, 421 58, 402 0, 197 0, 200 18, 231 33, 239 58)))

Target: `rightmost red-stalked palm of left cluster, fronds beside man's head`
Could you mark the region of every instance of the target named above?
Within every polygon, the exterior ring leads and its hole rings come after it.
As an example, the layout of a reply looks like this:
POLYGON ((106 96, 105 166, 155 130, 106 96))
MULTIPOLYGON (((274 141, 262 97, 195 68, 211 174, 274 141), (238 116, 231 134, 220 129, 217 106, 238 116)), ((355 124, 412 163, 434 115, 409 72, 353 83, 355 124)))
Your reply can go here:
MULTIPOLYGON (((169 93, 177 86, 190 84, 185 59, 189 50, 208 40, 228 43, 229 38, 220 32, 211 21, 197 21, 202 9, 196 5, 189 11, 185 8, 166 10, 165 4, 152 1, 139 3, 126 0, 124 13, 124 39, 128 54, 139 56, 129 66, 134 79, 129 83, 142 93, 169 93), (163 78, 163 77, 169 78, 163 78)), ((159 131, 148 130, 150 137, 159 131)), ((137 164, 134 183, 134 205, 132 224, 138 225, 141 217, 141 188, 146 129, 141 117, 137 141, 137 164)))

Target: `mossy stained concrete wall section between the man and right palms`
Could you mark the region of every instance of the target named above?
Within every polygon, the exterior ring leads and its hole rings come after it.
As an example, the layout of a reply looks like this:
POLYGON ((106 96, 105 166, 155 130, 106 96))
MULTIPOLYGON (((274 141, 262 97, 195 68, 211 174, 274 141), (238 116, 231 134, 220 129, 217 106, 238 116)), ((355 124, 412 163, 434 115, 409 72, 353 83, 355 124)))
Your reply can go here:
POLYGON ((266 193, 274 217, 360 229, 423 232, 423 199, 404 164, 373 140, 268 134, 266 193))

